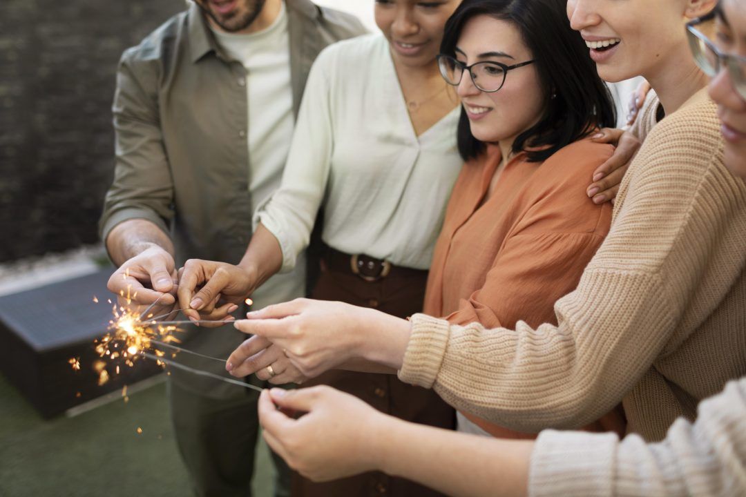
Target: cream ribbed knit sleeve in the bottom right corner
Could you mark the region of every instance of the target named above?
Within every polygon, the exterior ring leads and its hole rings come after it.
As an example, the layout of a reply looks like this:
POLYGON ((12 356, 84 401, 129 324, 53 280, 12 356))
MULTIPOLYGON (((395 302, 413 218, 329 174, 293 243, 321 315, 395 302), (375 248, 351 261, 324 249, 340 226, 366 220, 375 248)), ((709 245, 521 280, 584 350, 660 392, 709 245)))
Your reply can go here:
POLYGON ((661 443, 632 434, 544 431, 531 456, 529 495, 746 495, 746 379, 677 420, 661 443))

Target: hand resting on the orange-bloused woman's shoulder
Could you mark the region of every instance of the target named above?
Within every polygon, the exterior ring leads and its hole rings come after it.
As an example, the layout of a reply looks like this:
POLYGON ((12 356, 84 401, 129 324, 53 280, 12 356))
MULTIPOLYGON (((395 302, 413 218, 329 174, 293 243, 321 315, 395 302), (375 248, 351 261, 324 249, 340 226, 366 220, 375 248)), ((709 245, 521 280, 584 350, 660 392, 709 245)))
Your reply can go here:
POLYGON ((619 191, 619 185, 630 168, 630 163, 635 158, 637 151, 642 145, 629 131, 617 130, 604 127, 593 136, 593 141, 598 143, 610 143, 616 147, 614 155, 606 162, 599 165, 593 171, 593 183, 588 187, 586 193, 593 199, 593 203, 613 203, 619 191))

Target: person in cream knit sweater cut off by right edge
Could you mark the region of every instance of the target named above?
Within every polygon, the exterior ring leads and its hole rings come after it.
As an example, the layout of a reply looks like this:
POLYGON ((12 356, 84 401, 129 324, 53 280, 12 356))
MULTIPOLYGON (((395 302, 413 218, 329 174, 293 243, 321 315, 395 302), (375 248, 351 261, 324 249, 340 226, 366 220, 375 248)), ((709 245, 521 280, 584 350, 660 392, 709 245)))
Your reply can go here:
MULTIPOLYGON (((710 95, 718 103, 726 138, 725 165, 733 174, 746 178, 746 4, 722 0, 716 18, 718 46, 703 36, 706 23, 702 23, 701 31, 697 26, 690 27, 689 37, 700 67, 713 77, 710 95), (729 55, 723 56, 720 50, 729 55)), ((718 153, 722 153, 721 148, 718 153)), ((742 180, 716 177, 721 187, 744 186, 742 180)), ((686 194, 683 190, 680 193, 686 194)), ((725 197, 709 196, 706 201, 727 203, 725 197)), ((735 207, 743 215, 744 202, 735 207)), ((721 216, 728 218, 733 213, 726 210, 721 216)), ((743 232, 743 218, 735 218, 739 220, 743 232)), ((727 236, 727 230, 721 235, 727 236)), ((713 238, 712 243, 721 241, 713 238)), ((745 246, 742 240, 741 253, 745 246)), ((686 268, 680 272, 686 273, 686 268)), ((744 300, 740 303, 743 305, 744 300)), ((344 316, 347 309, 322 309, 306 303, 296 303, 295 307, 304 317, 295 324, 313 323, 313 315, 321 311, 341 312, 342 320, 350 319, 344 316)), ((742 308, 725 319, 733 326, 730 331, 742 338, 740 350, 733 350, 735 355, 745 349, 743 319, 742 308)), ((295 335, 304 335, 304 330, 296 328, 295 335)), ((746 494, 746 377, 702 402, 695 425, 677 420, 662 443, 647 445, 638 435, 620 443, 613 434, 545 431, 534 443, 456 434, 393 420, 351 396, 324 387, 264 392, 260 418, 270 445, 292 466, 316 479, 382 469, 460 496, 523 495, 527 490, 533 495, 746 494), (275 405, 283 411, 309 414, 292 420, 275 405)))

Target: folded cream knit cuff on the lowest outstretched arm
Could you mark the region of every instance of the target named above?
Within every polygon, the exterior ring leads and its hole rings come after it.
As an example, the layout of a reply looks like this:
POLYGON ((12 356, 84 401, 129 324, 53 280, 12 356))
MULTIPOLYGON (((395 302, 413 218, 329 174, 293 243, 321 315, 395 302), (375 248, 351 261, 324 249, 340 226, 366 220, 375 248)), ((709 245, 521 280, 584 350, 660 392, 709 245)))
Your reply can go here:
POLYGON ((618 437, 545 430, 531 455, 528 495, 611 496, 618 437))

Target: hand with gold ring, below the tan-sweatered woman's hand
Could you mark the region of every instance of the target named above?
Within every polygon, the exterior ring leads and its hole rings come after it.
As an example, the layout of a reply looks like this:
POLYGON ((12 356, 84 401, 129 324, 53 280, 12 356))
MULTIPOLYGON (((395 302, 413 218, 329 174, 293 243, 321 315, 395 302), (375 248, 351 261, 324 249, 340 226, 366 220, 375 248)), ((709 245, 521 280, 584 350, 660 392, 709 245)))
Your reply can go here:
POLYGON ((307 377, 298 371, 298 368, 285 355, 283 349, 266 338, 258 336, 249 338, 239 345, 236 352, 231 354, 231 358, 236 361, 237 365, 234 366, 229 358, 228 363, 225 364, 225 370, 238 378, 256 373, 258 379, 268 380, 272 384, 301 384, 307 380, 307 377), (275 376, 269 374, 267 366, 272 366, 275 376))

